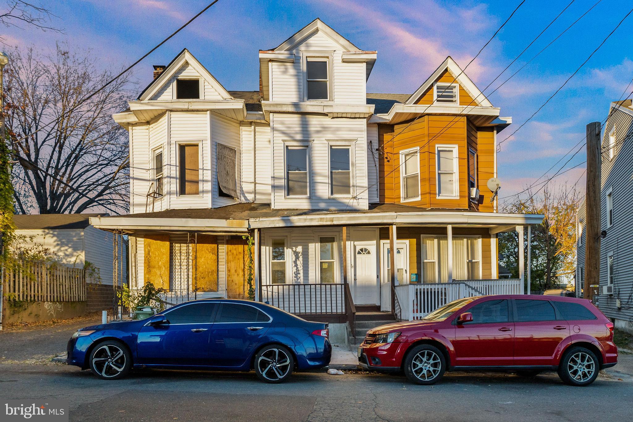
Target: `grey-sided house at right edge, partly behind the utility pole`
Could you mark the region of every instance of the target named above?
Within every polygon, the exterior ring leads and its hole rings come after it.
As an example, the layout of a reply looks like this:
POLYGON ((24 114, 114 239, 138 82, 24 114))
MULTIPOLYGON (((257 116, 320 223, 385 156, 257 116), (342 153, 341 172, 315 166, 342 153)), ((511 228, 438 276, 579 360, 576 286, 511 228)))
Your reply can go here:
MULTIPOLYGON (((600 167, 600 283, 594 300, 617 328, 633 332, 633 104, 611 102, 602 130, 600 167)), ((587 221, 584 201, 577 211, 576 293, 582 297, 585 282, 587 221)))

